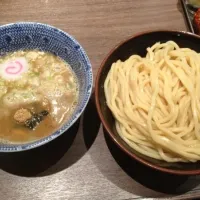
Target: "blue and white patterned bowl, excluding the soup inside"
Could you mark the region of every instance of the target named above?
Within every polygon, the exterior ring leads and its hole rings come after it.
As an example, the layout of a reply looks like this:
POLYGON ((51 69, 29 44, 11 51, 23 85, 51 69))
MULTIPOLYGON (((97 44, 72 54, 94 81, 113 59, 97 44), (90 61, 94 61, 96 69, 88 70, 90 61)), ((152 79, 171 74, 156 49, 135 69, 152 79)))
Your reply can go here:
POLYGON ((21 22, 0 26, 0 55, 21 49, 48 51, 67 61, 79 81, 79 100, 71 118, 56 132, 26 144, 2 144, 0 152, 36 148, 67 131, 84 111, 92 92, 92 67, 81 45, 69 34, 49 25, 21 22))

